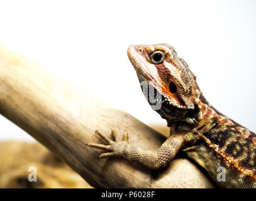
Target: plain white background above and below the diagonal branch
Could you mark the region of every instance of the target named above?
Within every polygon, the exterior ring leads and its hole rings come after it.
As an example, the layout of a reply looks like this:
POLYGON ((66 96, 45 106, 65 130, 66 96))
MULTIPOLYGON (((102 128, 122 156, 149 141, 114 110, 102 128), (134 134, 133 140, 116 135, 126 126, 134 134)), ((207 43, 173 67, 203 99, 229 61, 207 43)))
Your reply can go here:
MULTIPOLYGON (((0 43, 146 124, 126 49, 169 43, 206 99, 256 131, 256 1, 1 1, 0 43)), ((32 138, 0 116, 0 140, 32 138)))

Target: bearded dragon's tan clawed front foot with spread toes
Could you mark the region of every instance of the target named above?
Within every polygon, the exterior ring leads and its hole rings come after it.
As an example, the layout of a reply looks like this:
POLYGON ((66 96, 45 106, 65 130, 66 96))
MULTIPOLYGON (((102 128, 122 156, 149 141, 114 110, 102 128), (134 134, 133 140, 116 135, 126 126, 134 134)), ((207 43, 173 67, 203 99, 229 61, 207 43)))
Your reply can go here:
POLYGON ((101 138, 103 138, 104 141, 108 143, 108 145, 96 144, 96 143, 87 144, 93 148, 109 151, 107 153, 103 153, 99 155, 99 158, 111 158, 111 157, 118 157, 118 156, 124 155, 126 146, 128 146, 128 133, 126 131, 123 132, 123 140, 121 140, 118 138, 118 135, 116 134, 116 129, 114 129, 114 126, 113 126, 111 128, 111 133, 114 138, 114 141, 109 139, 105 134, 101 133, 101 131, 96 130, 95 133, 101 136, 101 138))

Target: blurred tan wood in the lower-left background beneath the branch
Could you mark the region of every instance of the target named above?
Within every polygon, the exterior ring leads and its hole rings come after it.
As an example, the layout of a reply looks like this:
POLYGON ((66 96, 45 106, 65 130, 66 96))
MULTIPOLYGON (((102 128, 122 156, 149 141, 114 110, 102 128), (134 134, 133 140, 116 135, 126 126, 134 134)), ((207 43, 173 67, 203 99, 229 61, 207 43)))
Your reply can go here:
POLYGON ((40 143, 1 142, 0 164, 0 188, 92 188, 40 143), (28 181, 30 167, 37 182, 28 181))

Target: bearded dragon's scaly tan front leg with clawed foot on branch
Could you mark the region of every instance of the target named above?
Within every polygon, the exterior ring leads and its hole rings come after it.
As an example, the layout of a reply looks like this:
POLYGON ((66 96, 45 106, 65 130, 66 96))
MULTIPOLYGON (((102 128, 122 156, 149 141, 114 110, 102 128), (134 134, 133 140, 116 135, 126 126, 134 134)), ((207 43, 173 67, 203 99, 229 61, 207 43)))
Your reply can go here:
POLYGON ((112 136, 114 141, 109 139, 100 131, 96 131, 96 133, 99 134, 99 136, 101 136, 101 138, 103 138, 108 145, 94 143, 90 143, 88 145, 93 148, 109 151, 108 153, 101 154, 99 158, 125 158, 131 163, 145 166, 146 168, 152 170, 158 170, 168 165, 184 143, 183 136, 174 134, 167 138, 157 151, 150 151, 128 144, 128 133, 126 133, 126 131, 123 133, 123 140, 120 140, 116 134, 116 130, 113 127, 112 136))

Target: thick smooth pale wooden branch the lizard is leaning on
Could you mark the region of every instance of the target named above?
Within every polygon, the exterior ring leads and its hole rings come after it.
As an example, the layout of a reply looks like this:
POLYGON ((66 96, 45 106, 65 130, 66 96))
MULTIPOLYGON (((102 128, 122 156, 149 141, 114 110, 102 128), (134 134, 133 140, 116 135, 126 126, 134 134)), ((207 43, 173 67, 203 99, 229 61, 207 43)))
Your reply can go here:
POLYGON ((198 166, 175 158, 161 171, 143 170, 125 160, 98 160, 102 143, 115 126, 130 143, 157 149, 165 137, 126 112, 108 106, 30 60, 0 46, 0 113, 44 144, 94 187, 212 188, 198 166))

